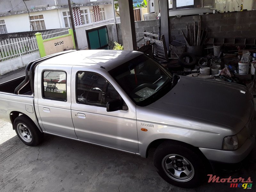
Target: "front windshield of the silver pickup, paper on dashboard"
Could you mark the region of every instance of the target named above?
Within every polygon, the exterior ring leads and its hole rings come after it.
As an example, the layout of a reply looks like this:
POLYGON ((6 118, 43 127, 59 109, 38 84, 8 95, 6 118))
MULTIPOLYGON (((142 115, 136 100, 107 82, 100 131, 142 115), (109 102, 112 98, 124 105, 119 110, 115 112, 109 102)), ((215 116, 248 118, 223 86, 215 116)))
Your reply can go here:
POLYGON ((171 90, 171 74, 146 55, 140 55, 109 73, 139 106, 149 105, 171 90))

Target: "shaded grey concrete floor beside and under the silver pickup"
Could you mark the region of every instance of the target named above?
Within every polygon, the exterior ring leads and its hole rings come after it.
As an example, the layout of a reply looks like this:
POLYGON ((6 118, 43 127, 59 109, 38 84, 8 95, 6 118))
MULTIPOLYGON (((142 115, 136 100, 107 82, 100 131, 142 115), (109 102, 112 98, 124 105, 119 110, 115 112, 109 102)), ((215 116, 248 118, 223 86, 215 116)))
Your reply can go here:
MULTIPOLYGON (((256 148, 235 173, 221 178, 256 181, 256 148)), ((172 186, 162 180, 147 159, 91 144, 46 135, 37 147, 23 144, 17 136, 0 145, 0 191, 228 191, 230 184, 207 183, 195 189, 172 186)), ((256 188, 256 186, 252 186, 256 188)), ((232 188, 241 191, 242 188, 232 188)))

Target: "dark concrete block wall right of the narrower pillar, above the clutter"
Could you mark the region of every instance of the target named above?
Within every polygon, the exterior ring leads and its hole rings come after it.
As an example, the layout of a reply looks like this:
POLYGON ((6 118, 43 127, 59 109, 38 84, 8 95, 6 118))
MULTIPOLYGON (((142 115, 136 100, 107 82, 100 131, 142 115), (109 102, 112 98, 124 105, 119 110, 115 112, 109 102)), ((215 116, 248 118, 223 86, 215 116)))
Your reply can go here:
MULTIPOLYGON (((216 13, 202 16, 202 28, 208 30, 207 37, 256 38, 256 11, 216 13)), ((199 15, 169 18, 169 38, 185 43, 181 30, 186 34, 186 26, 196 25, 199 15)), ((186 34, 187 35, 187 34, 186 34)))

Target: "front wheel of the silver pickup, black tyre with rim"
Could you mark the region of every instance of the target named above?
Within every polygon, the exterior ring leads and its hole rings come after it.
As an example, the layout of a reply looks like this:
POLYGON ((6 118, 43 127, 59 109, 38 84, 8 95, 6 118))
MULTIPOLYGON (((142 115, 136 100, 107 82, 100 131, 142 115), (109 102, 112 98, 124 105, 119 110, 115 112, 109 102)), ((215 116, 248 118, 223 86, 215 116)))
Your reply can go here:
POLYGON ((160 144, 154 154, 154 165, 165 181, 181 188, 197 187, 206 178, 207 167, 202 156, 179 142, 160 144))

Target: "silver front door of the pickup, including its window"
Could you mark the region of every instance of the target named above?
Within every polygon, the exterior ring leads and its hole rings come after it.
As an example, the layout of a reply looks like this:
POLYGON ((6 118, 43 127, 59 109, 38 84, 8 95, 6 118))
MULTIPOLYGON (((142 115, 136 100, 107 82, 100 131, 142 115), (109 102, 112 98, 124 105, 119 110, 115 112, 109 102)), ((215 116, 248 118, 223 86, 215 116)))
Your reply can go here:
MULTIPOLYGON (((76 92, 72 98, 71 113, 79 140, 138 152, 138 134, 135 110, 107 112, 106 104, 121 96, 103 76, 89 71, 72 69, 76 92)), ((74 84, 72 84, 74 85, 74 84)), ((124 103, 125 105, 125 103, 124 103)))

